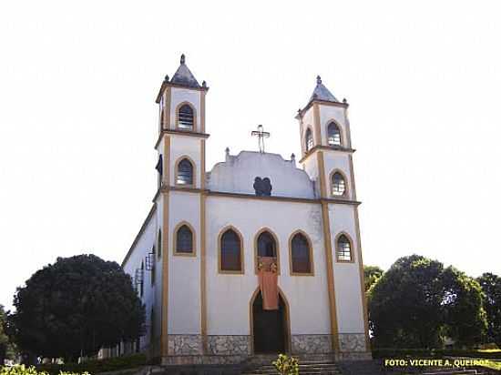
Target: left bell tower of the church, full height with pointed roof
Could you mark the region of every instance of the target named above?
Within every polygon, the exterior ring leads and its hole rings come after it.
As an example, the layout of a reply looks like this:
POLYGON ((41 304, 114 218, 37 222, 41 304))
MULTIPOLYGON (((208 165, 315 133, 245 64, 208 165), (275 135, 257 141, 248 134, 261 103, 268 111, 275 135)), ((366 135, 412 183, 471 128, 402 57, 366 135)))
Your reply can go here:
POLYGON ((203 354, 205 319, 205 96, 186 65, 166 76, 157 96, 158 193, 162 285, 160 352, 189 335, 203 354), (189 280, 189 282, 186 282, 189 280))

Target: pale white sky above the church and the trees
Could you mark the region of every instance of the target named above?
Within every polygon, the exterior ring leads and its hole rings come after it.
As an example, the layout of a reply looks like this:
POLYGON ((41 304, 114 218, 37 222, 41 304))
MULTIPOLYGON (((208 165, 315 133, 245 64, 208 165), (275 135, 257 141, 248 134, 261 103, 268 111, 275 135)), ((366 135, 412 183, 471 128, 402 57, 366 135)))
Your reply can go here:
POLYGON ((156 192, 155 97, 185 53, 224 148, 300 155, 315 76, 350 103, 364 263, 501 274, 498 1, 0 5, 0 304, 56 257, 121 262, 156 192))

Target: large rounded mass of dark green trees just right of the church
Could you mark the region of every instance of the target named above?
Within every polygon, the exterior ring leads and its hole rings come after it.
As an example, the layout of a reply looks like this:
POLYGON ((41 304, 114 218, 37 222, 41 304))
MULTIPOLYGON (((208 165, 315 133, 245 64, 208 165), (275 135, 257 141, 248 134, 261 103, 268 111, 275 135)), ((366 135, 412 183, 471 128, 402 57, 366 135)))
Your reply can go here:
POLYGON ((369 322, 379 348, 440 348, 480 342, 486 328, 475 280, 418 255, 397 259, 369 290, 369 322))

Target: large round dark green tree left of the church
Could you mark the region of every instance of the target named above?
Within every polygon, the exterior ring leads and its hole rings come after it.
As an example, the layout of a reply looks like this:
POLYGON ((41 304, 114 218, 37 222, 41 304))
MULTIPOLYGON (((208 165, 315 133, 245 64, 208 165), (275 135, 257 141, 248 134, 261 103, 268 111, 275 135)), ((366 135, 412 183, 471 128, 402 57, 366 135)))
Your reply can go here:
POLYGON ((18 288, 12 316, 21 350, 75 360, 144 331, 144 307, 116 262, 94 255, 57 258, 18 288))

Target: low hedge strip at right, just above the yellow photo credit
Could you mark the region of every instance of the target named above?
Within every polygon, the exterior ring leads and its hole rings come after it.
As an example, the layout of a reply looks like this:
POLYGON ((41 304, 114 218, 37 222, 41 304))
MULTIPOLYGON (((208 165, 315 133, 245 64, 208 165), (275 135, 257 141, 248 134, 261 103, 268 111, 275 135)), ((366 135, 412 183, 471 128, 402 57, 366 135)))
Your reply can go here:
POLYGON ((480 350, 455 350, 455 349, 373 349, 373 358, 444 358, 444 357, 467 357, 482 358, 489 360, 501 359, 501 351, 480 351, 480 350))

